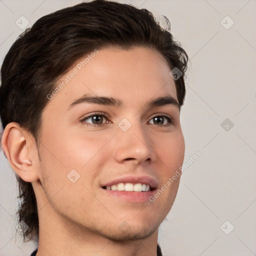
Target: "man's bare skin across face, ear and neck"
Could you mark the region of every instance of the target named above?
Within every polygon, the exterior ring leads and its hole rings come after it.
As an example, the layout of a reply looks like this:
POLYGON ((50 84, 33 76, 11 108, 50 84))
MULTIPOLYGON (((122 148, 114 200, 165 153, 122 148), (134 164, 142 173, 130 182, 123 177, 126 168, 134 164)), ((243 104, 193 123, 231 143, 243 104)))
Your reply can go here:
POLYGON ((173 204, 180 177, 154 202, 127 202, 107 195, 101 185, 143 174, 154 177, 160 188, 182 165, 179 108, 145 106, 159 96, 177 100, 170 70, 156 50, 100 49, 44 108, 40 158, 28 131, 14 122, 6 126, 5 154, 13 170, 32 183, 37 199, 37 255, 156 255, 158 226, 173 204), (123 107, 80 103, 69 108, 84 94, 117 98, 123 107), (101 117, 101 126, 90 126, 92 118, 81 121, 93 112, 108 115, 101 117), (172 123, 164 125, 168 120, 162 114, 172 123), (118 126, 123 118, 131 123, 125 132, 118 126), (72 169, 80 175, 74 183, 67 178, 72 169))

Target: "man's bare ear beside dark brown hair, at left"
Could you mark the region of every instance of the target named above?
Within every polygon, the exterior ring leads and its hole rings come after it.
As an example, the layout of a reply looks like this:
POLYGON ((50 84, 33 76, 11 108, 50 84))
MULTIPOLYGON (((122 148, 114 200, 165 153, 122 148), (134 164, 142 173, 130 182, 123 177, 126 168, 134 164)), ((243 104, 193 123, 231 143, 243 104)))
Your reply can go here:
POLYGON ((37 147, 31 133, 16 122, 6 125, 2 136, 3 151, 12 167, 24 181, 37 180, 37 147), (36 150, 36 154, 34 153, 36 150))

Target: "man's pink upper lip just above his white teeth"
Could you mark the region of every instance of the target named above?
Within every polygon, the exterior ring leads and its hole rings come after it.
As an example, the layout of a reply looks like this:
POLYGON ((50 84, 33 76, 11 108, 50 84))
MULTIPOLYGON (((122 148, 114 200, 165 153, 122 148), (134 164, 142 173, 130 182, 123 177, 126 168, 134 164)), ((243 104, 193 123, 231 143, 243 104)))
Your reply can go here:
POLYGON ((104 183, 102 187, 111 186, 118 183, 133 183, 133 184, 142 183, 142 184, 149 184, 151 188, 157 187, 157 181, 153 177, 146 176, 146 175, 143 175, 143 176, 126 175, 126 176, 118 177, 109 182, 104 183))

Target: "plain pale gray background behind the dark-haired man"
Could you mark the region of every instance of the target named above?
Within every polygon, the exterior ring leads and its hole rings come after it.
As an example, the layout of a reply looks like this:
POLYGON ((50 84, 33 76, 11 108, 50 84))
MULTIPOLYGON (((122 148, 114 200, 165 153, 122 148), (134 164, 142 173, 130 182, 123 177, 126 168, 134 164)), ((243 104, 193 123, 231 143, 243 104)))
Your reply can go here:
MULTIPOLYGON (((0 0, 0 63, 24 30, 15 23, 20 16, 29 27, 79 2, 0 0)), ((197 150, 201 156, 184 170, 159 227, 163 255, 256 255, 256 1, 119 2, 167 16, 191 61, 180 113, 184 162, 197 150)), ((15 235, 16 180, 2 150, 0 171, 0 255, 30 255, 35 244, 15 235)))

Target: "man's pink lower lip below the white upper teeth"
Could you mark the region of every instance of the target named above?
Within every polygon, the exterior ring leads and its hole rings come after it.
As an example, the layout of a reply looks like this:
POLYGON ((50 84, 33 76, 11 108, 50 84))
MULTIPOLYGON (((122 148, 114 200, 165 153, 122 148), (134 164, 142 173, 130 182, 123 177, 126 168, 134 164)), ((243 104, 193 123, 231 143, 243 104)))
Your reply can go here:
POLYGON ((149 197, 152 196, 155 191, 144 191, 144 192, 135 192, 135 191, 118 191, 118 190, 107 190, 102 188, 106 194, 115 196, 118 199, 129 201, 129 202, 150 202, 149 197))

